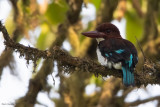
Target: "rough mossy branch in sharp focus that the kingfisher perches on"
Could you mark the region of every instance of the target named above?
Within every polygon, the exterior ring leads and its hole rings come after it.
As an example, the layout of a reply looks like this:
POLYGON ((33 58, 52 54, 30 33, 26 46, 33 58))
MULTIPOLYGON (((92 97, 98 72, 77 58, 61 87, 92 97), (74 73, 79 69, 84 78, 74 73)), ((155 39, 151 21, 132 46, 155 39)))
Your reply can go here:
MULTIPOLYGON (((108 69, 97 62, 90 59, 81 59, 78 57, 72 57, 68 52, 55 46, 52 50, 38 50, 30 46, 24 46, 19 43, 15 43, 8 35, 5 26, 0 22, 0 31, 3 33, 5 38, 6 48, 11 48, 15 52, 20 53, 20 57, 24 56, 27 62, 32 60, 36 66, 36 61, 40 58, 52 59, 60 62, 63 66, 63 71, 70 73, 70 71, 84 71, 94 73, 96 76, 115 76, 122 77, 120 71, 115 69, 108 69), (70 70, 72 69, 72 70, 70 70)), ((160 65, 153 63, 151 61, 146 61, 142 71, 135 71, 135 81, 136 86, 148 85, 148 84, 160 84, 160 65)))

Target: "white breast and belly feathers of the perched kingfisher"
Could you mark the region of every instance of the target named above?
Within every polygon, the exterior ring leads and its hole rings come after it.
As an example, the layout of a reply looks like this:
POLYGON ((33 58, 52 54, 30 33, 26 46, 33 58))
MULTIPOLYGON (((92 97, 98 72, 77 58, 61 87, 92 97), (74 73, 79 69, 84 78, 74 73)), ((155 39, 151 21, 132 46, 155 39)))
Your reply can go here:
POLYGON ((98 58, 98 62, 103 66, 106 66, 108 68, 114 67, 115 69, 122 69, 121 62, 113 63, 112 61, 108 61, 106 57, 102 56, 99 48, 97 48, 97 58, 98 58))

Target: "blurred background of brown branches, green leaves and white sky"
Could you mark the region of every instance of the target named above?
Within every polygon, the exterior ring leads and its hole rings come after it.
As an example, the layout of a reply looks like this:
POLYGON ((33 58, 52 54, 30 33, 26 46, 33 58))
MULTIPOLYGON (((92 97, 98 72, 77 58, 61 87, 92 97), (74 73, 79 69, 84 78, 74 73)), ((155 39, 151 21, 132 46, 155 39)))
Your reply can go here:
MULTIPOLYGON (((111 22, 138 51, 135 37, 148 58, 160 60, 159 0, 0 0, 0 20, 16 42, 40 50, 60 46, 72 56, 95 61, 96 40, 81 32, 111 22)), ((160 106, 158 84, 126 88, 112 76, 64 73, 56 60, 39 60, 33 73, 33 62, 5 50, 3 42, 0 33, 0 107, 160 106)), ((138 53, 140 69, 143 55, 138 53)))

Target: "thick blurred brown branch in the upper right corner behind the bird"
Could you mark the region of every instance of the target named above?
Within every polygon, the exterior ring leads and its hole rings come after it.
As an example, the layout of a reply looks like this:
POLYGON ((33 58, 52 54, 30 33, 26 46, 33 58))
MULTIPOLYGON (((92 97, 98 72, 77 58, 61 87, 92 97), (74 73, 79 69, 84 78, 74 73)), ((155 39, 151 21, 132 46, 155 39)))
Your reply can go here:
POLYGON ((141 40, 141 44, 144 45, 150 40, 155 40, 158 37, 158 27, 156 20, 158 17, 159 0, 148 0, 147 1, 147 13, 145 15, 144 22, 144 34, 141 40), (152 35, 152 36, 151 36, 152 35))

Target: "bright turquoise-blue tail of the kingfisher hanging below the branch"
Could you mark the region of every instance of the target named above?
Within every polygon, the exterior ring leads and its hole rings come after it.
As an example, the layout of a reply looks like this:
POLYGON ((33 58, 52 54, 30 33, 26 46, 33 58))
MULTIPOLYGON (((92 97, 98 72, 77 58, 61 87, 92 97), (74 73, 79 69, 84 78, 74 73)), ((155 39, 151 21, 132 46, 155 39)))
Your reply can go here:
POLYGON ((122 66, 123 84, 125 86, 134 86, 134 73, 133 69, 129 66, 122 66))

